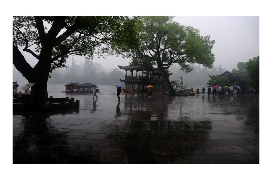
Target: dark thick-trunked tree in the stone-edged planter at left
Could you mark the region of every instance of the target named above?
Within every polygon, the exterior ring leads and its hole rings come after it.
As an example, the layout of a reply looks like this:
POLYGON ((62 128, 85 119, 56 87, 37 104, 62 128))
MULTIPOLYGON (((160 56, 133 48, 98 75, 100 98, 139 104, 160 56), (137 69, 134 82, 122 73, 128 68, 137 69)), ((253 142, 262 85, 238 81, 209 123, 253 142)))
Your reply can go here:
POLYGON ((66 67, 69 56, 92 58, 111 48, 135 49, 137 21, 129 16, 13 16, 13 64, 26 80, 36 83, 32 102, 48 102, 49 73, 66 67), (19 48, 37 59, 34 67, 19 48))

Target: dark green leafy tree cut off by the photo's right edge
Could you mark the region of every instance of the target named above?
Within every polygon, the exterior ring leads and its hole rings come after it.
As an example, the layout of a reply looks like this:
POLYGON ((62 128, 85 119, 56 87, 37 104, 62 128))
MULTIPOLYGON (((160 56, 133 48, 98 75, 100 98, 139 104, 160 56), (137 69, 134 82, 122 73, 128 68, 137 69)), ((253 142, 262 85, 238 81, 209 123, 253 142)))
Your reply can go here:
POLYGON ((257 92, 259 92, 259 84, 260 84, 260 56, 253 57, 252 59, 249 59, 246 65, 248 76, 250 79, 247 81, 248 85, 254 89, 256 89, 257 92))

